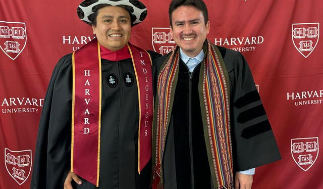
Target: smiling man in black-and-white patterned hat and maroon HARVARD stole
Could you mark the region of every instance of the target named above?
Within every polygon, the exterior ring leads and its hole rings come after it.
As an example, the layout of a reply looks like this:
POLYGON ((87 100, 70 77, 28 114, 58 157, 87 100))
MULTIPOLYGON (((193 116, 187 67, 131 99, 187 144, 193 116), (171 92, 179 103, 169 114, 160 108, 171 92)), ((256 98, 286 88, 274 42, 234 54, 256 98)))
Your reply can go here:
POLYGON ((77 13, 96 38, 53 71, 31 188, 149 188, 151 58, 158 54, 129 43, 147 10, 136 0, 86 0, 77 13))

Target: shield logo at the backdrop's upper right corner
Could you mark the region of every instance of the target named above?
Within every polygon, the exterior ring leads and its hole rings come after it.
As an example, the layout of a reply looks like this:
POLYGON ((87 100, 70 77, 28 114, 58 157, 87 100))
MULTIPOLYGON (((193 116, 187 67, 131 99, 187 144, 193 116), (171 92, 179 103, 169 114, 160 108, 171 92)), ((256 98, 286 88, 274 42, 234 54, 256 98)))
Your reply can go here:
POLYGON ((297 51, 307 58, 315 49, 319 37, 319 23, 293 24, 292 39, 297 51))

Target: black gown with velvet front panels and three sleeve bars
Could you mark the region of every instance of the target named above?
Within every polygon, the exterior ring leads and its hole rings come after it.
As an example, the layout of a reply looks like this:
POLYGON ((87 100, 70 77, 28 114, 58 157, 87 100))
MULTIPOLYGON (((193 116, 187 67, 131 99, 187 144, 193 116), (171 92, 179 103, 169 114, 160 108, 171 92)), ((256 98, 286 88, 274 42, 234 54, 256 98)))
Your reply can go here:
MULTIPOLYGON (((279 160, 280 153, 244 57, 218 46, 230 78, 233 168, 248 170, 279 160)), ((155 59, 154 82, 169 55, 155 59)), ((205 58, 205 57, 204 57, 205 58)), ((173 110, 161 166, 164 189, 213 188, 198 92, 201 64, 190 74, 180 60, 173 110)))

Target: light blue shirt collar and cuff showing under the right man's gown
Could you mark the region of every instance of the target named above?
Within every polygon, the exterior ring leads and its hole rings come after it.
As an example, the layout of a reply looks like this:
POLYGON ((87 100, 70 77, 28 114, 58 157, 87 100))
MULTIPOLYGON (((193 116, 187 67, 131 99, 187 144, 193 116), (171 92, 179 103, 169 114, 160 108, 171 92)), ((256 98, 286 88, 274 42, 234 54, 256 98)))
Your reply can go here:
MULTIPOLYGON (((190 72, 192 73, 194 68, 203 61, 204 58, 204 52, 203 49, 201 50, 201 52, 196 55, 196 57, 189 57, 187 56, 182 49, 180 48, 180 58, 181 60, 186 64, 186 66, 188 67, 188 69, 190 70, 190 72)), ((242 174, 254 174, 256 168, 252 168, 252 169, 248 169, 245 171, 239 171, 242 174)))

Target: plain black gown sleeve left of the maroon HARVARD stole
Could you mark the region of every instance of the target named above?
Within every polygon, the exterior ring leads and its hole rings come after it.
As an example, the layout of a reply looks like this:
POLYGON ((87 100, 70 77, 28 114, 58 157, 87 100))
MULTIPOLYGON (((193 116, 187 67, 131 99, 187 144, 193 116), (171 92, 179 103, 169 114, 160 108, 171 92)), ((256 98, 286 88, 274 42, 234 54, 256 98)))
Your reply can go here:
POLYGON ((57 63, 42 108, 31 189, 63 188, 71 159, 72 56, 57 63))

